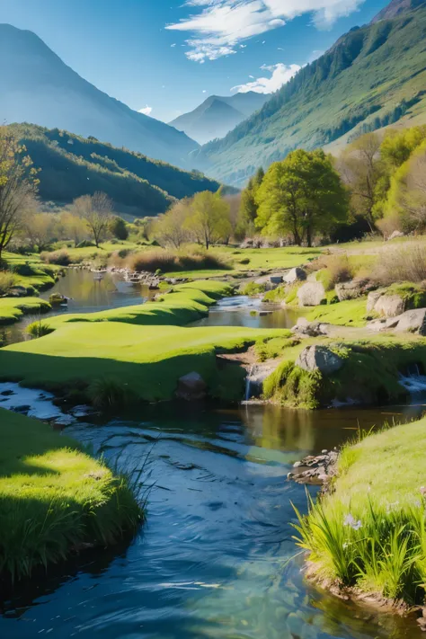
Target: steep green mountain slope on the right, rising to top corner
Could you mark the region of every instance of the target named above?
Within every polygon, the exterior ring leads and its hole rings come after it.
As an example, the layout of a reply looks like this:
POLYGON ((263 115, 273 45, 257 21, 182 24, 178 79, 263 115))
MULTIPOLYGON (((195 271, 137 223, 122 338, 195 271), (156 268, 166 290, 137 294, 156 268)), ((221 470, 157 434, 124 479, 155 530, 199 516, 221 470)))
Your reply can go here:
POLYGON ((426 0, 394 0, 303 67, 226 138, 195 151, 192 164, 241 185, 258 166, 294 148, 346 143, 395 122, 426 121, 425 89, 426 0))

